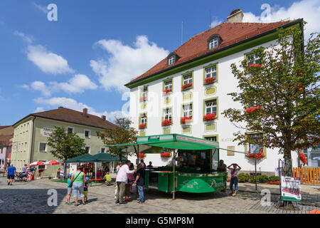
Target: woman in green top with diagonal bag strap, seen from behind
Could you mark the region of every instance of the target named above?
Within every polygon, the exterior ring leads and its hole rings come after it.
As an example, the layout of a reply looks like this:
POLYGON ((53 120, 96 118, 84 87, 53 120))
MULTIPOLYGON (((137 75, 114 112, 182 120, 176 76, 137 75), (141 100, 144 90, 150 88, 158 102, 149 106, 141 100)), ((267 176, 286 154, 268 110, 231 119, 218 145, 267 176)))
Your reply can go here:
POLYGON ((78 165, 77 171, 71 177, 73 183, 73 197, 75 197, 75 206, 78 206, 78 192, 82 199, 82 204, 85 205, 85 193, 83 192, 83 185, 85 184, 85 174, 82 172, 82 166, 78 165))

